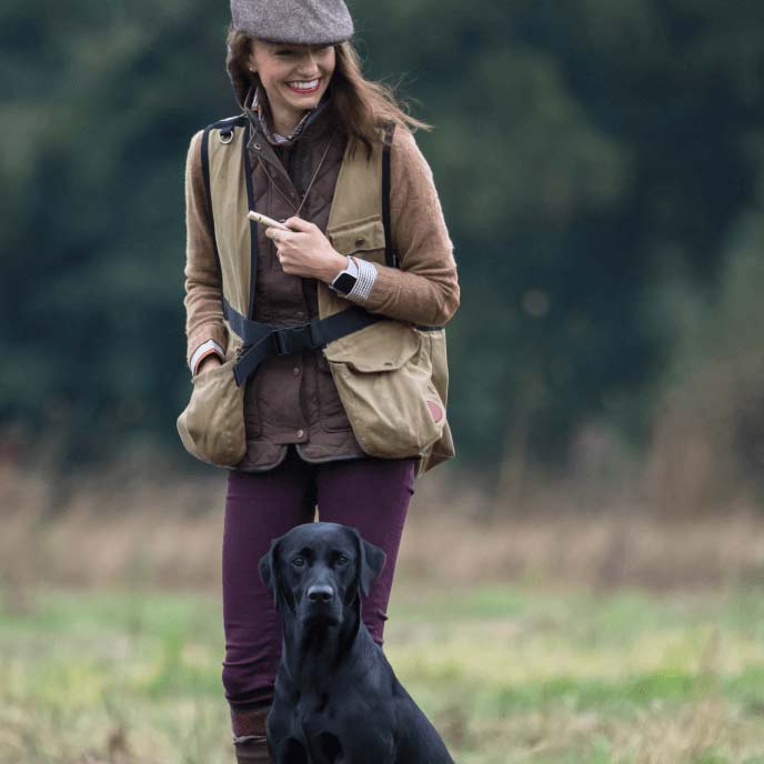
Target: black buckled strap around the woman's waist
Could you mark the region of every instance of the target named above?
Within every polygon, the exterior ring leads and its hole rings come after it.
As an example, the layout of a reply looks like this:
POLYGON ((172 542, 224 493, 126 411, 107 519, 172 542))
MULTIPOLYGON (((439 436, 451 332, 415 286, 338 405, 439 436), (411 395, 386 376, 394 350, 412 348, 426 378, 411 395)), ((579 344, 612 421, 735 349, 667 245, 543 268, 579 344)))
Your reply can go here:
POLYGON ((292 326, 278 325, 251 321, 234 310, 224 298, 223 314, 231 331, 244 342, 233 366, 233 376, 240 388, 265 359, 316 351, 345 334, 383 320, 381 315, 353 306, 325 319, 313 319, 292 326))

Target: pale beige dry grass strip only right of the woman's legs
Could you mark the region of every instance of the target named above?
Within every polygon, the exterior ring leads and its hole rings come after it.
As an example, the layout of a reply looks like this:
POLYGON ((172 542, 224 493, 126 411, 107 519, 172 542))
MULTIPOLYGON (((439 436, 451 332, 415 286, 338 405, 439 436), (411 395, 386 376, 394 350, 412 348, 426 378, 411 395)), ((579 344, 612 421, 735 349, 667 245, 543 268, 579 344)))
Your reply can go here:
POLYGON ((402 564, 412 573, 462 581, 651 590, 736 585, 764 581, 764 520, 745 510, 697 520, 590 512, 476 525, 432 513, 411 523, 402 564))

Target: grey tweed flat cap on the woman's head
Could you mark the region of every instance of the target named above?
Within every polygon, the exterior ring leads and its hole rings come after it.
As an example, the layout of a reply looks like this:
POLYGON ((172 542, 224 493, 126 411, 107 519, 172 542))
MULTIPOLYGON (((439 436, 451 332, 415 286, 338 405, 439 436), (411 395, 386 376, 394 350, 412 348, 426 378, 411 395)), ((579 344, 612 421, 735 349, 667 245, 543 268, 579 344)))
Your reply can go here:
POLYGON ((343 0, 231 0, 233 26, 258 40, 334 46, 353 37, 343 0))

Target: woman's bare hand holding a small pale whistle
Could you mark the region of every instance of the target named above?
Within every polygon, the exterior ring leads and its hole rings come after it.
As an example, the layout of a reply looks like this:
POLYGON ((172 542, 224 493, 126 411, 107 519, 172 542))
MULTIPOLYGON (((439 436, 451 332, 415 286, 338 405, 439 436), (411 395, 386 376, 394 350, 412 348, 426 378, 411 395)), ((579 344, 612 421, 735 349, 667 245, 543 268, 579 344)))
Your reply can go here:
POLYGON ((348 264, 348 259, 331 245, 314 223, 290 218, 284 225, 291 230, 265 229, 265 235, 275 244, 284 273, 331 283, 348 264))

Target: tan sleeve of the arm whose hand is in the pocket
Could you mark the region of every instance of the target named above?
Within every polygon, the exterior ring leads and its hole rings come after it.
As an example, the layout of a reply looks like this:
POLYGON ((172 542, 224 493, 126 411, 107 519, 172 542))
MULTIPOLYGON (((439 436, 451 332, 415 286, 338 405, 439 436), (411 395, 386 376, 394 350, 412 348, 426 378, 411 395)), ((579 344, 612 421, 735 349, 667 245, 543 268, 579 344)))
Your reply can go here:
POLYGON ((191 373, 209 353, 225 352, 228 335, 221 306, 221 280, 212 241, 204 178, 202 174, 200 130, 189 145, 185 160, 185 336, 187 360, 191 373), (198 352, 200 351, 201 352, 198 352))

